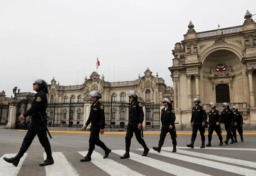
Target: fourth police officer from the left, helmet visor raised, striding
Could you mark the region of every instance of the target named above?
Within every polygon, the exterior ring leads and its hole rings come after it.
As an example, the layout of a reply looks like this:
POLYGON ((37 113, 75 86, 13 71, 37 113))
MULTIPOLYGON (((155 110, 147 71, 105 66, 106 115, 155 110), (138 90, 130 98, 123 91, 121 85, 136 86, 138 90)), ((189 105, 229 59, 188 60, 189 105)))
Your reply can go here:
POLYGON ((171 102, 168 98, 163 98, 161 102, 163 103, 164 108, 161 110, 162 128, 160 133, 160 140, 158 143, 158 147, 153 147, 153 149, 160 153, 161 147, 163 146, 163 142, 165 141, 166 134, 169 132, 171 135, 172 144, 173 144, 172 152, 176 152, 177 135, 176 135, 175 125, 174 125, 174 122, 176 119, 174 109, 172 108, 171 102))

